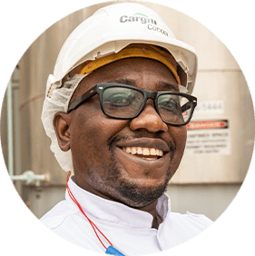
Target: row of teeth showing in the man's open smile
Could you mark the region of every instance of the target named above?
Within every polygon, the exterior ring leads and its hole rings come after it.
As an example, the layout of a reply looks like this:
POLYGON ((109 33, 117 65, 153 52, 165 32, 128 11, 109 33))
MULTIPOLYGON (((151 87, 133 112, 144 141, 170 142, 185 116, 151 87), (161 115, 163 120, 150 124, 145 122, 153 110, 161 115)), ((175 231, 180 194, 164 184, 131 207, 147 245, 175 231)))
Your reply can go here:
POLYGON ((164 155, 163 151, 156 148, 147 147, 123 147, 125 153, 130 153, 134 156, 140 157, 143 160, 155 161, 164 155))

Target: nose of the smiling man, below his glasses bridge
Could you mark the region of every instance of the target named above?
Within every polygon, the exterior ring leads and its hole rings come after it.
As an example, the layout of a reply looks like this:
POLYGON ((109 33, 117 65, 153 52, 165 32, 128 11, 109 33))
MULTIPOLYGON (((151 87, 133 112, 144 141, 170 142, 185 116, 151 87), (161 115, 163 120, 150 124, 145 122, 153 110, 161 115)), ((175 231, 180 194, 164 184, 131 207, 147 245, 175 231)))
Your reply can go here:
POLYGON ((146 103, 142 113, 136 118, 133 118, 130 123, 130 129, 132 131, 139 129, 146 129, 150 133, 167 132, 168 126, 162 122, 162 118, 156 112, 153 107, 153 103, 149 103, 151 99, 146 103))

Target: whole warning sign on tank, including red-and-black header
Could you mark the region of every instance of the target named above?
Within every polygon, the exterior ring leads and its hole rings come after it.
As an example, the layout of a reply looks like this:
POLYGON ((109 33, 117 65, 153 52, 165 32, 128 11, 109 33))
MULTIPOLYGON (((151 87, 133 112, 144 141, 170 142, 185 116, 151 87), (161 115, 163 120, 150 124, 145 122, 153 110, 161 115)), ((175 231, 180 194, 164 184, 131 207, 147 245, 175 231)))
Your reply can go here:
POLYGON ((187 130, 186 154, 231 153, 228 120, 191 122, 187 125, 187 130))

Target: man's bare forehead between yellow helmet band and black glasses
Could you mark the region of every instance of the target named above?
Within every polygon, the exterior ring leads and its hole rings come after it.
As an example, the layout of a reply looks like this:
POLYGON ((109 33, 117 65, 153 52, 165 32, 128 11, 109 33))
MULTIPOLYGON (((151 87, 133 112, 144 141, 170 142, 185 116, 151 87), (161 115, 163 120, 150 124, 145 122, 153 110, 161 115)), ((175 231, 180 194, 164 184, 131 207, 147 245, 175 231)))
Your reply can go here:
POLYGON ((107 64, 87 75, 76 89, 75 98, 95 84, 114 83, 134 85, 150 91, 179 91, 172 72, 162 63, 130 58, 107 64))

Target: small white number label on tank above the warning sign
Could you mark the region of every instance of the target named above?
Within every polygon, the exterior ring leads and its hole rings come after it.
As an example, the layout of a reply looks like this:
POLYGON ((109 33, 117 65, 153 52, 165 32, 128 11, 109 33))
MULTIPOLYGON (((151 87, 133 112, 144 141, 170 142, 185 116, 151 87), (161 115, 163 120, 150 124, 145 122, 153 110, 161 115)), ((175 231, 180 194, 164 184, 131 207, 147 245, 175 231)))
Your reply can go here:
POLYGON ((194 113, 223 113, 224 105, 222 101, 206 101, 200 102, 195 108, 194 113))

